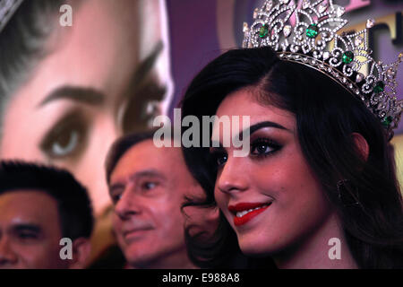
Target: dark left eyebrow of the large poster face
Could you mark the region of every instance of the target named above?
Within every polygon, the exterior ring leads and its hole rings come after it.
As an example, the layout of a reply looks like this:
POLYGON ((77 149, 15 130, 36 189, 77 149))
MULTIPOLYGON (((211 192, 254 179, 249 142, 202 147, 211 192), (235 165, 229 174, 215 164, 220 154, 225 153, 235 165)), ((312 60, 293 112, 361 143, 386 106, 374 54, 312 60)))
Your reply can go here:
POLYGON ((38 107, 41 108, 47 103, 55 100, 73 100, 92 106, 99 106, 105 101, 106 96, 101 91, 92 88, 82 88, 77 86, 64 85, 51 91, 38 107))

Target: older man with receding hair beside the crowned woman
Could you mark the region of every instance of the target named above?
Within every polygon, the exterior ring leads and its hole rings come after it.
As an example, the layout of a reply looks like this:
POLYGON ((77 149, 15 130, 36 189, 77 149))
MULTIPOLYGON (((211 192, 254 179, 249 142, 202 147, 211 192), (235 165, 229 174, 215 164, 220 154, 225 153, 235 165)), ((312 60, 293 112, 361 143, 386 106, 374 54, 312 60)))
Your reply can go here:
MULTIPOLYGON (((153 131, 128 135, 107 156, 117 241, 131 268, 194 268, 184 244, 187 196, 202 196, 177 147, 158 148, 153 131)), ((217 213, 211 215, 212 222, 217 213)))

